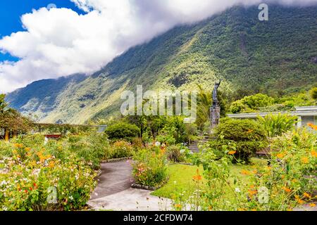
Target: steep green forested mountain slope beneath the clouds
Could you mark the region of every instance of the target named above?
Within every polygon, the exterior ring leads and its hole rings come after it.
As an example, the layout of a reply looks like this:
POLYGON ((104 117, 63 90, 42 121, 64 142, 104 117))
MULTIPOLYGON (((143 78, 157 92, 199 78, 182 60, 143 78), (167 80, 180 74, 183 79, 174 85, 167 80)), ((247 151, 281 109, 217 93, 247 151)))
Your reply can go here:
POLYGON ((221 78, 222 91, 233 98, 309 89, 317 82, 316 12, 271 6, 269 21, 261 22, 257 7, 230 8, 135 46, 92 76, 35 82, 7 100, 42 122, 83 123, 118 114, 121 92, 137 84, 144 90, 212 89, 221 78))

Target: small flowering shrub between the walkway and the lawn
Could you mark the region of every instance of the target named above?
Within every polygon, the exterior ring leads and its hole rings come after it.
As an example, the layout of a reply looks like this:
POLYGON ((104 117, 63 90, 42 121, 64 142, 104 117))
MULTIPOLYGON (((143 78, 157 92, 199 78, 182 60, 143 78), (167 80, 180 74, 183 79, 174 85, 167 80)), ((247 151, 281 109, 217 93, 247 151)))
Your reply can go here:
POLYGON ((137 184, 157 187, 166 181, 168 173, 165 148, 139 150, 133 160, 132 174, 137 184))

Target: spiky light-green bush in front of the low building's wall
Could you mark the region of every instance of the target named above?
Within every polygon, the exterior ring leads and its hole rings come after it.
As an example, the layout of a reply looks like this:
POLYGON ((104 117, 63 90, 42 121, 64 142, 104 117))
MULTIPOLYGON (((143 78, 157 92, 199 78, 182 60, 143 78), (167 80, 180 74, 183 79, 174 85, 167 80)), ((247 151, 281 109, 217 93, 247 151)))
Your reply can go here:
POLYGON ((266 129, 266 135, 268 137, 280 136, 286 131, 290 131, 294 128, 294 124, 297 122, 296 116, 290 115, 266 115, 266 117, 258 117, 259 122, 266 129))

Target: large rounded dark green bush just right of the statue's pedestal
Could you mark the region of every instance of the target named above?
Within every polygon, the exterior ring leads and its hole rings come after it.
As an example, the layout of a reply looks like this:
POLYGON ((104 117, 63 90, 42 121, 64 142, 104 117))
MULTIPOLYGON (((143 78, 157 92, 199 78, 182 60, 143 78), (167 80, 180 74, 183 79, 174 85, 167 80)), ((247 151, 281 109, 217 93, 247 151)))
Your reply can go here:
POLYGON ((267 146, 266 131, 259 122, 254 120, 225 119, 215 130, 216 141, 211 145, 222 152, 223 146, 235 142, 235 159, 249 162, 251 155, 267 146))

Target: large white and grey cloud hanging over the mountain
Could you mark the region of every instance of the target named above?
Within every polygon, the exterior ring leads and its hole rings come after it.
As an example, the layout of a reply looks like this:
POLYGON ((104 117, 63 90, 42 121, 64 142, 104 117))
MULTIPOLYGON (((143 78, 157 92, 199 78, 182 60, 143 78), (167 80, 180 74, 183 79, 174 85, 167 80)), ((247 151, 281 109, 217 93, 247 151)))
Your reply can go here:
MULTIPOLYGON (((0 63, 0 92, 38 79, 91 74, 131 46, 175 25, 208 18, 235 5, 261 0, 70 0, 86 12, 40 8, 22 15, 24 32, 0 40, 0 51, 20 58, 0 63)), ((309 5, 317 0, 271 0, 309 5)))

